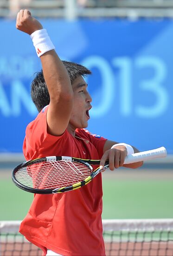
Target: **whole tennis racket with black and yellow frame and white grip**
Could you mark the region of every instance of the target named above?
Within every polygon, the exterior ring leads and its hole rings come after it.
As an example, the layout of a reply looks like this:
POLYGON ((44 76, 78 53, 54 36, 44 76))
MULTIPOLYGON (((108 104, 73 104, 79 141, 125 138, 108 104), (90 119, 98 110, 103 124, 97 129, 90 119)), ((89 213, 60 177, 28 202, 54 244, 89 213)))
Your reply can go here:
MULTIPOLYGON (((167 155, 166 148, 128 155, 124 164, 146 161, 167 155)), ((79 189, 88 184, 97 174, 109 168, 93 169, 100 160, 86 160, 69 156, 48 156, 23 162, 13 169, 12 179, 16 186, 35 194, 55 194, 79 189)))

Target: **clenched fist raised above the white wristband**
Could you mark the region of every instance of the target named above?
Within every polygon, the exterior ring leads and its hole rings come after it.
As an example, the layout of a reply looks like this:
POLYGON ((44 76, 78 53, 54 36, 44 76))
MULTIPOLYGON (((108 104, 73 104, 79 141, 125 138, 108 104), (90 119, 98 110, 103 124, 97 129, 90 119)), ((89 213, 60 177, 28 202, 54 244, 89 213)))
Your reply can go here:
POLYGON ((16 18, 16 28, 30 35, 43 27, 38 20, 32 17, 30 11, 20 10, 16 18))

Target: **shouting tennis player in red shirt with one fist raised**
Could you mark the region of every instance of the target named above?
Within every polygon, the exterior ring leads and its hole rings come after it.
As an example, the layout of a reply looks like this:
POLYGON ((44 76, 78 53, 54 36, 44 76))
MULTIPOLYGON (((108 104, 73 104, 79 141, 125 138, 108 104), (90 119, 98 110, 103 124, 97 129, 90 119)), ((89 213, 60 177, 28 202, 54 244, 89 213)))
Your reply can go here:
MULTIPOLYGON (((126 155, 139 152, 136 148, 85 129, 92 100, 84 76, 90 70, 62 62, 46 30, 28 10, 19 11, 16 27, 30 35, 43 68, 32 82, 32 99, 39 114, 26 128, 26 160, 67 155, 101 159, 102 166, 109 159, 111 170, 140 167, 142 162, 123 165, 126 155)), ((102 174, 81 189, 35 195, 19 231, 47 256, 103 256, 102 195, 102 174)))

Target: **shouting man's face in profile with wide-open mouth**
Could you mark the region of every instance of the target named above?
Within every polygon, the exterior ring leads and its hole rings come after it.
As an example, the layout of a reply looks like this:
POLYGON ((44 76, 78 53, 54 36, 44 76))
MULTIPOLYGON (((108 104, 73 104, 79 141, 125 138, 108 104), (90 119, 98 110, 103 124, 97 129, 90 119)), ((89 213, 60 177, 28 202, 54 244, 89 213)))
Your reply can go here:
POLYGON ((77 77, 72 84, 74 92, 73 109, 70 116, 70 126, 86 128, 90 119, 89 110, 92 108, 90 94, 87 91, 87 84, 82 76, 77 77))

